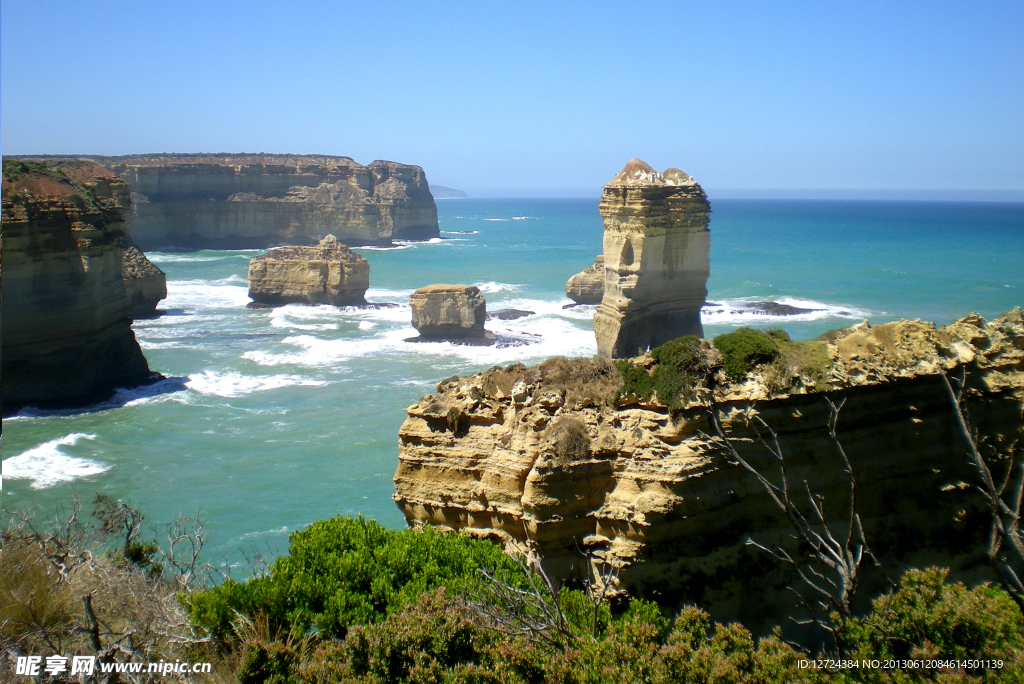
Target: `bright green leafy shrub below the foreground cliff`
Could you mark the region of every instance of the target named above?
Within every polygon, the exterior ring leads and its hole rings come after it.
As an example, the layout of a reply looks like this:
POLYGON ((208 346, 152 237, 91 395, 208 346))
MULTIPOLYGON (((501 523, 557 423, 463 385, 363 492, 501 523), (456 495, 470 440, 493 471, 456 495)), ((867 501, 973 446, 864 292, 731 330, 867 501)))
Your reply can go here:
POLYGON ((489 542, 427 527, 394 531, 362 517, 334 517, 294 532, 289 555, 265 575, 186 597, 193 622, 218 639, 232 636, 236 611, 265 617, 272 633, 310 630, 343 637, 380 622, 417 595, 475 581, 477 568, 514 563, 489 542))

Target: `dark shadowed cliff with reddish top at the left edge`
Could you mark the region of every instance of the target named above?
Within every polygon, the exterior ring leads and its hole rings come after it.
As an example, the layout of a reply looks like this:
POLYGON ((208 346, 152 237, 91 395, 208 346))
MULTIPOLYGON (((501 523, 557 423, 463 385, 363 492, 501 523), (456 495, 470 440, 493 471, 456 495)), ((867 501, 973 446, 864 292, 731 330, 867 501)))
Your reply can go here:
POLYGON ((3 413, 154 379, 122 281, 128 185, 86 161, 3 165, 3 413))

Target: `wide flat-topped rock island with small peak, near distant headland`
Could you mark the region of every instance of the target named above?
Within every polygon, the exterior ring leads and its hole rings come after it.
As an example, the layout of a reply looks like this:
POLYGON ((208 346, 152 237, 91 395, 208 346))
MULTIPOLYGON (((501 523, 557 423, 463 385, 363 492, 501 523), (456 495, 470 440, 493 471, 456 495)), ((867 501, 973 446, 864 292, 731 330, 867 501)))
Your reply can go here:
POLYGON ((279 247, 249 262, 249 296, 259 304, 367 303, 370 263, 327 236, 316 247, 279 247))

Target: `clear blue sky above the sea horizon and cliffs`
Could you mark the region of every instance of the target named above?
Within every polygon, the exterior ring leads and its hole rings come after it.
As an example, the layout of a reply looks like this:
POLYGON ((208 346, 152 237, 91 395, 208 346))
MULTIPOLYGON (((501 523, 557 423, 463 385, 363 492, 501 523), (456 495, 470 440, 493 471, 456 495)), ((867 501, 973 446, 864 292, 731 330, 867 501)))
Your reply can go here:
POLYGON ((592 195, 640 157, 720 194, 1024 198, 1021 0, 3 0, 0 56, 5 155, 347 155, 476 196, 592 195))

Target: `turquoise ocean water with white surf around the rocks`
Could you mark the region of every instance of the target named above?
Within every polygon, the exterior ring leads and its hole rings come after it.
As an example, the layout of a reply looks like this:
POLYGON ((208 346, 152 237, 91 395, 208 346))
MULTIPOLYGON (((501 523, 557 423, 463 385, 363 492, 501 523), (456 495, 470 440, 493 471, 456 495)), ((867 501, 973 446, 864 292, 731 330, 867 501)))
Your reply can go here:
MULTIPOLYGON (((947 324, 1024 305, 1024 204, 714 201, 707 336, 741 325, 797 338, 858 323, 947 324), (743 301, 818 309, 737 313, 743 301)), ((167 272, 168 314, 135 324, 168 377, 80 412, 3 421, 3 507, 44 511, 77 489, 140 505, 151 521, 200 511, 208 559, 336 513, 403 523, 391 501, 402 410, 453 374, 591 355, 593 307, 563 309, 564 284, 601 250, 597 202, 438 202, 441 239, 359 248, 370 301, 395 308, 245 307, 259 251, 150 253, 167 272), (535 315, 488 328, 516 347, 414 344, 408 298, 431 283, 473 284, 488 310, 535 315)))

